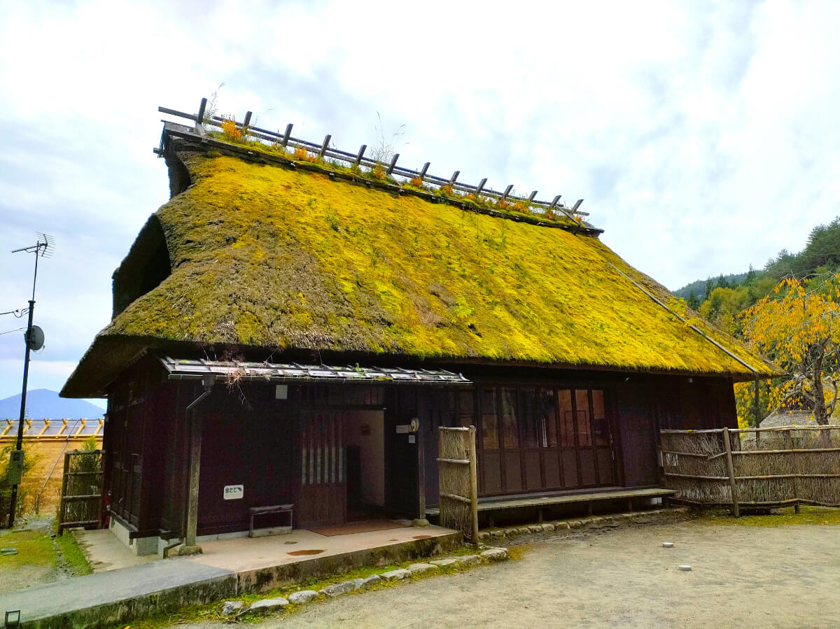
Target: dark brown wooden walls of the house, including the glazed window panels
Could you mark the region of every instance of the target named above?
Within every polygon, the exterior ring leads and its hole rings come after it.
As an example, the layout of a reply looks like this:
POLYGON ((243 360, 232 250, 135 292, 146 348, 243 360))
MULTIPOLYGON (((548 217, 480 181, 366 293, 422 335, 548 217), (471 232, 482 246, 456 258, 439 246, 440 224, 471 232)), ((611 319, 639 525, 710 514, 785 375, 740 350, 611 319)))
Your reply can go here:
MULTIPOLYGON (((408 517, 420 515, 421 490, 428 506, 438 504, 438 427, 477 428, 479 494, 490 497, 655 487, 661 485, 659 429, 736 425, 726 378, 480 365, 452 370, 475 385, 289 385, 288 399, 277 400, 269 383, 218 383, 195 408, 203 422, 198 534, 247 531, 249 508, 273 504, 295 504, 296 525, 344 521, 344 411, 381 412, 383 511, 408 517), (326 441, 321 432, 318 439, 307 432, 318 417, 338 422, 326 441), (415 417, 416 435, 397 431, 415 417), (423 474, 418 444, 426 453, 423 474), (327 459, 318 456, 333 457, 333 466, 324 467, 327 459), (303 474, 304 463, 318 460, 329 482, 303 474), (244 485, 244 498, 223 500, 225 485, 244 485)), ((154 359, 140 360, 112 385, 105 483, 113 515, 136 535, 184 532, 185 409, 202 391, 197 381, 165 380, 154 359)))

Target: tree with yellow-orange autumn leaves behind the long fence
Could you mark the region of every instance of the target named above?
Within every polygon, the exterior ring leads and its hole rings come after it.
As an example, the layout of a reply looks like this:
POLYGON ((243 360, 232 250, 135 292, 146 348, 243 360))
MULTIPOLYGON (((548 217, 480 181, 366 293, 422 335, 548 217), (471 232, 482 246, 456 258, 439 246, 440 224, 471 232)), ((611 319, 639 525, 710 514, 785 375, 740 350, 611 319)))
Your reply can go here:
POLYGON ((741 315, 748 343, 790 374, 771 397, 782 408, 812 411, 822 426, 834 411, 840 380, 838 300, 840 274, 789 277, 741 315))

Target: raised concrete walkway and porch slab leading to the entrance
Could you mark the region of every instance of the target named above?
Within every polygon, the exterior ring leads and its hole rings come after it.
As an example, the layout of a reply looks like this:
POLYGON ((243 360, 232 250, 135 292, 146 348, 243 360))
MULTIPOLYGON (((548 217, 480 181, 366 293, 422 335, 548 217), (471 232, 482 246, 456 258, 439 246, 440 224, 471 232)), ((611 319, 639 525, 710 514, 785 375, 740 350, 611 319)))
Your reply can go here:
POLYGON ((267 591, 308 576, 428 556, 459 543, 460 533, 442 527, 331 537, 299 530, 203 542, 202 555, 148 561, 95 532, 81 545, 99 572, 0 595, 0 618, 5 611, 20 610, 27 626, 108 626, 150 612, 267 591), (131 565, 138 561, 148 563, 131 565))

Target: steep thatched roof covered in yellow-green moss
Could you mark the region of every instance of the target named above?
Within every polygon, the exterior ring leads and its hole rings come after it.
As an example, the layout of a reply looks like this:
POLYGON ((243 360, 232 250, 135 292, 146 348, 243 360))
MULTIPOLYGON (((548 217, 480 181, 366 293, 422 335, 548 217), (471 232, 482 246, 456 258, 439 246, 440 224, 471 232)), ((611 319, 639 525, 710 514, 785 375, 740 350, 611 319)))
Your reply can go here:
MULTIPOLYGON (((265 164, 259 152, 208 150, 189 137, 169 141, 166 156, 175 196, 115 272, 113 321, 62 395, 102 395, 144 349, 176 355, 208 344, 362 364, 467 360, 753 377, 634 286, 628 277, 663 301, 670 296, 595 230, 394 194, 395 186, 361 185, 305 163, 284 167, 293 161, 286 158, 265 164)), ((759 374, 776 373, 699 325, 759 374)))

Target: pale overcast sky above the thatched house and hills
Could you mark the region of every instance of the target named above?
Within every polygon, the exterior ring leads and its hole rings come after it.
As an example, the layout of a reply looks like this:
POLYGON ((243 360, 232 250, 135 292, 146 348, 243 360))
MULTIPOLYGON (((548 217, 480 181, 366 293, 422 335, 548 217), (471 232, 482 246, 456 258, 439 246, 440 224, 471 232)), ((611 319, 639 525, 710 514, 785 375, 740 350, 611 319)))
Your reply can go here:
MULTIPOLYGON (((59 390, 111 274, 165 203, 163 105, 562 194, 671 289, 761 267, 840 214, 840 3, 16 3, 0 0, 0 312, 39 271, 29 388, 59 390)), ((25 319, 0 317, 0 398, 25 319)), ((102 403, 102 402, 100 402, 102 403)))

